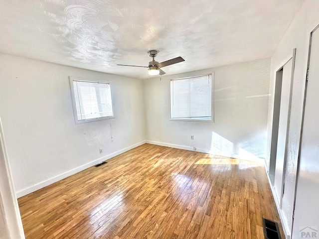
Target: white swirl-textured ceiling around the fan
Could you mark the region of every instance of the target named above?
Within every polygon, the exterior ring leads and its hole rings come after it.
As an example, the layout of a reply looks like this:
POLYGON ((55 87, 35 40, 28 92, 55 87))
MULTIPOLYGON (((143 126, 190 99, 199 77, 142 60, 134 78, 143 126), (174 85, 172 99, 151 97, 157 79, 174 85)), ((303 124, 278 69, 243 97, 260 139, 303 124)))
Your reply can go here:
POLYGON ((0 52, 147 78, 270 57, 304 0, 0 0, 0 52))

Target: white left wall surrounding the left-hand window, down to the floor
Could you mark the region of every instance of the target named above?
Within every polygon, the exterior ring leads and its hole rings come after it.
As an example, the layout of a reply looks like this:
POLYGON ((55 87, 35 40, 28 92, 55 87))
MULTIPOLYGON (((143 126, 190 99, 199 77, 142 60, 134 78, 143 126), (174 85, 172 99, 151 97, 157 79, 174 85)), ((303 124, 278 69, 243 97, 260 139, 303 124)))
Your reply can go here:
POLYGON ((0 72, 0 117, 18 196, 145 142, 141 80, 6 54, 0 72), (75 124, 69 76, 111 81, 115 119, 75 124))

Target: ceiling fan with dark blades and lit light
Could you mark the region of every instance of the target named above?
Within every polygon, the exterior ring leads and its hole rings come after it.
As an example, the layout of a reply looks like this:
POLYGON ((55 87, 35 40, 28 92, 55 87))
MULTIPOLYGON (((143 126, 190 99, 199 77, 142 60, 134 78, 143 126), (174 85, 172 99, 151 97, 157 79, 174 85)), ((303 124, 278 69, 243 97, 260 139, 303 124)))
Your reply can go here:
MULTIPOLYGON (((149 68, 149 75, 151 76, 164 75, 165 72, 163 72, 160 68, 185 61, 183 58, 179 56, 179 57, 159 63, 154 60, 154 58, 158 55, 159 50, 149 50, 148 53, 150 54, 150 57, 153 58, 153 61, 149 62, 149 66, 134 66, 134 67, 149 68)), ((133 66, 133 65, 122 65, 122 64, 117 64, 117 65, 118 66, 133 66)))

